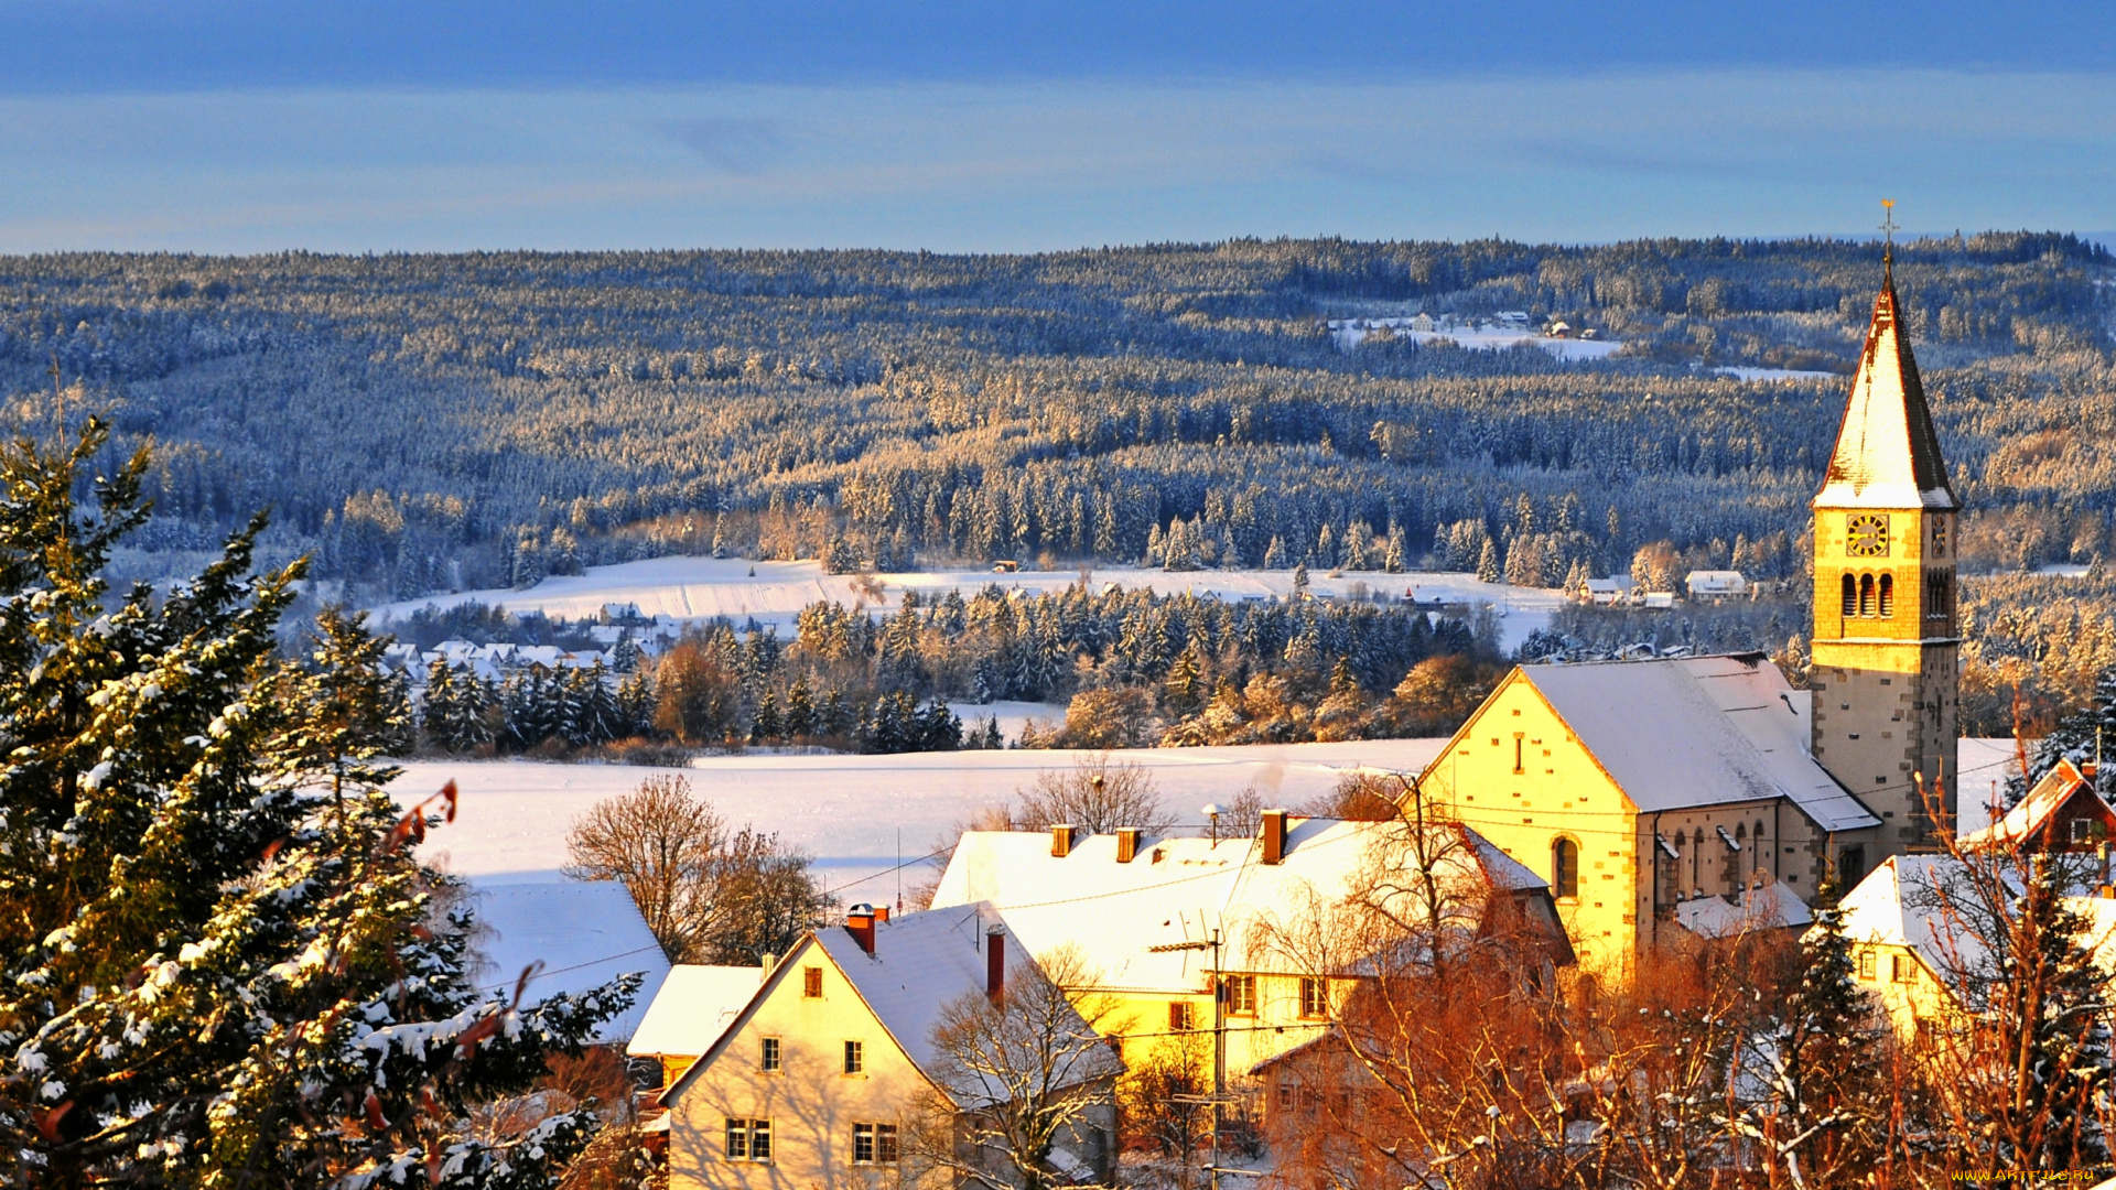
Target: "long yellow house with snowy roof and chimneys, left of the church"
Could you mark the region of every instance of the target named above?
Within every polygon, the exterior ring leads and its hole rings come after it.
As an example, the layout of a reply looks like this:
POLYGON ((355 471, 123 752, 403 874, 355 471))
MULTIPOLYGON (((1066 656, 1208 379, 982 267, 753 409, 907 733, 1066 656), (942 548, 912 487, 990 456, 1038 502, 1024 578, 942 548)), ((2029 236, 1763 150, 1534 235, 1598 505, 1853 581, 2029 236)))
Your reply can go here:
POLYGON ((1551 961, 1572 961, 1543 879, 1471 830, 1433 830, 1445 839, 1422 849, 1403 824, 1287 811, 1265 811, 1248 839, 971 830, 933 910, 988 904, 1028 953, 1075 951, 1092 982, 1069 991, 1119 1006, 1128 1063, 1212 1029, 1219 989, 1229 1069, 1246 1069, 1329 1025, 1371 959, 1327 938, 1329 915, 1378 881, 1416 885, 1420 855, 1443 898, 1466 906, 1458 930, 1526 923, 1551 961))

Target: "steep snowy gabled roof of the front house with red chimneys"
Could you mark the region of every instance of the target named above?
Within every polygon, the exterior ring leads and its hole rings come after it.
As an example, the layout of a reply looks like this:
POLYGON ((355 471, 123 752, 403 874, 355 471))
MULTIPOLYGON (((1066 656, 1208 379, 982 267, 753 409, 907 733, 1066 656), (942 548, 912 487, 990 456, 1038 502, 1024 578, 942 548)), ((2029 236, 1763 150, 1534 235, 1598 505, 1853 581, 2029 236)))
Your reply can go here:
MULTIPOLYGON (((853 985, 861 1004, 874 1014, 874 1021, 889 1033, 889 1038, 904 1050, 914 1067, 933 1086, 948 1093, 959 1107, 975 1107, 973 1097, 965 1095, 961 1088, 952 1088, 944 1082, 940 1052, 933 1048, 933 1029, 942 1023, 948 1006, 963 999, 965 995, 984 995, 986 978, 986 955, 984 946, 986 927, 1005 925, 999 915, 992 913, 988 904, 963 904, 952 908, 933 908, 927 913, 906 913, 889 921, 874 923, 874 953, 870 955, 859 946, 851 932, 842 925, 827 925, 823 930, 813 930, 800 940, 779 966, 764 978, 760 987, 751 989, 747 1004, 732 1021, 722 1029, 719 1038, 705 1050, 705 1054, 671 1086, 662 1093, 662 1103, 673 1103, 686 1088, 690 1088, 711 1063, 726 1050, 728 1040, 741 1029, 741 1025, 755 1014, 758 1006, 787 978, 796 966, 808 966, 813 955, 821 951, 829 961, 844 974, 844 980, 853 985)), ((1007 961, 1007 985, 1016 985, 1024 976, 1037 970, 1037 959, 1033 953, 1024 953, 1026 946, 1018 944, 1007 930, 1005 940, 1005 961, 1007 961)), ((747 968, 745 968, 747 970, 747 968)), ((1094 1029, 1088 1027, 1083 1018, 1073 1016, 1073 1027, 1079 1038, 1094 1038, 1094 1029)), ((1107 1054, 1107 1050, 1096 1050, 1107 1054)), ((1119 1074, 1121 1063, 1109 1054, 1107 1063, 1090 1061, 1083 1063, 1083 1078, 1102 1078, 1119 1074)))

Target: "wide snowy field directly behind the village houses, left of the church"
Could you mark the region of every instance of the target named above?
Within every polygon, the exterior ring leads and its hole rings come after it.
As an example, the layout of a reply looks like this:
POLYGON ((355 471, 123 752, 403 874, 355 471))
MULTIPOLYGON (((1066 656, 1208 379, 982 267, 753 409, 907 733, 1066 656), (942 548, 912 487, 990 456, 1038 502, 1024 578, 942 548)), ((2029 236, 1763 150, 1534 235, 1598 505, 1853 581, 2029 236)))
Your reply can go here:
MULTIPOLYGON (((1251 747, 1141 747, 1117 752, 1151 769, 1162 800, 1183 822, 1198 807, 1255 786, 1265 803, 1299 805, 1327 794, 1352 769, 1418 771, 1443 739, 1356 743, 1272 743, 1251 747)), ((832 883, 861 881, 916 860, 950 824, 1014 796, 1037 773, 1071 769, 1081 752, 912 752, 901 756, 707 756, 690 769, 631 764, 540 764, 525 760, 415 760, 398 781, 417 798, 453 779, 457 819, 427 839, 425 853, 480 881, 554 879, 565 864, 565 832, 590 805, 635 788, 652 773, 683 773, 734 826, 755 824, 806 847, 834 870, 832 883)), ((923 872, 908 872, 916 879, 923 872)), ((895 883, 851 887, 872 898, 895 883)))

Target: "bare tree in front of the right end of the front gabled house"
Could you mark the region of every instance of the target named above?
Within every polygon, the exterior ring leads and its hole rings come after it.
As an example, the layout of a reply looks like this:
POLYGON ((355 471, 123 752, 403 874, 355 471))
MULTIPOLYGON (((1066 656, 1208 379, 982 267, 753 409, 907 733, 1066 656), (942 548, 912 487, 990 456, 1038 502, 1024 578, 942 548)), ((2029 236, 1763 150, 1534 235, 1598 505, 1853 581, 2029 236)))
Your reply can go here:
POLYGON ((969 993, 942 1008, 933 1086, 906 1129, 916 1160, 961 1182, 1045 1190, 1066 1182, 1052 1173, 1066 1165, 1054 1165, 1054 1150, 1081 1162, 1107 1152, 1124 1063, 1102 1033, 1126 1023, 1113 1021, 1113 999, 1066 993, 1096 982, 1066 946, 1016 961, 1001 995, 969 993))

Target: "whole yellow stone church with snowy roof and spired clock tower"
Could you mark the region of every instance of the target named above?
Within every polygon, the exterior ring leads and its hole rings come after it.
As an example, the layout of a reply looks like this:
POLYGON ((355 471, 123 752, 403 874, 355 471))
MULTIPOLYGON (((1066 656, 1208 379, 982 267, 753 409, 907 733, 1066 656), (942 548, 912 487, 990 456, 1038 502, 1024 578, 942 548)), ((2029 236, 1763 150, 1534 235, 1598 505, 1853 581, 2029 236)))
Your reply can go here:
POLYGON ((1813 498, 1811 688, 1763 654, 1517 667, 1420 792, 1549 881, 1589 968, 1684 906, 1799 908, 1830 870, 1930 851, 1955 811, 1959 510, 1887 260, 1813 498))

